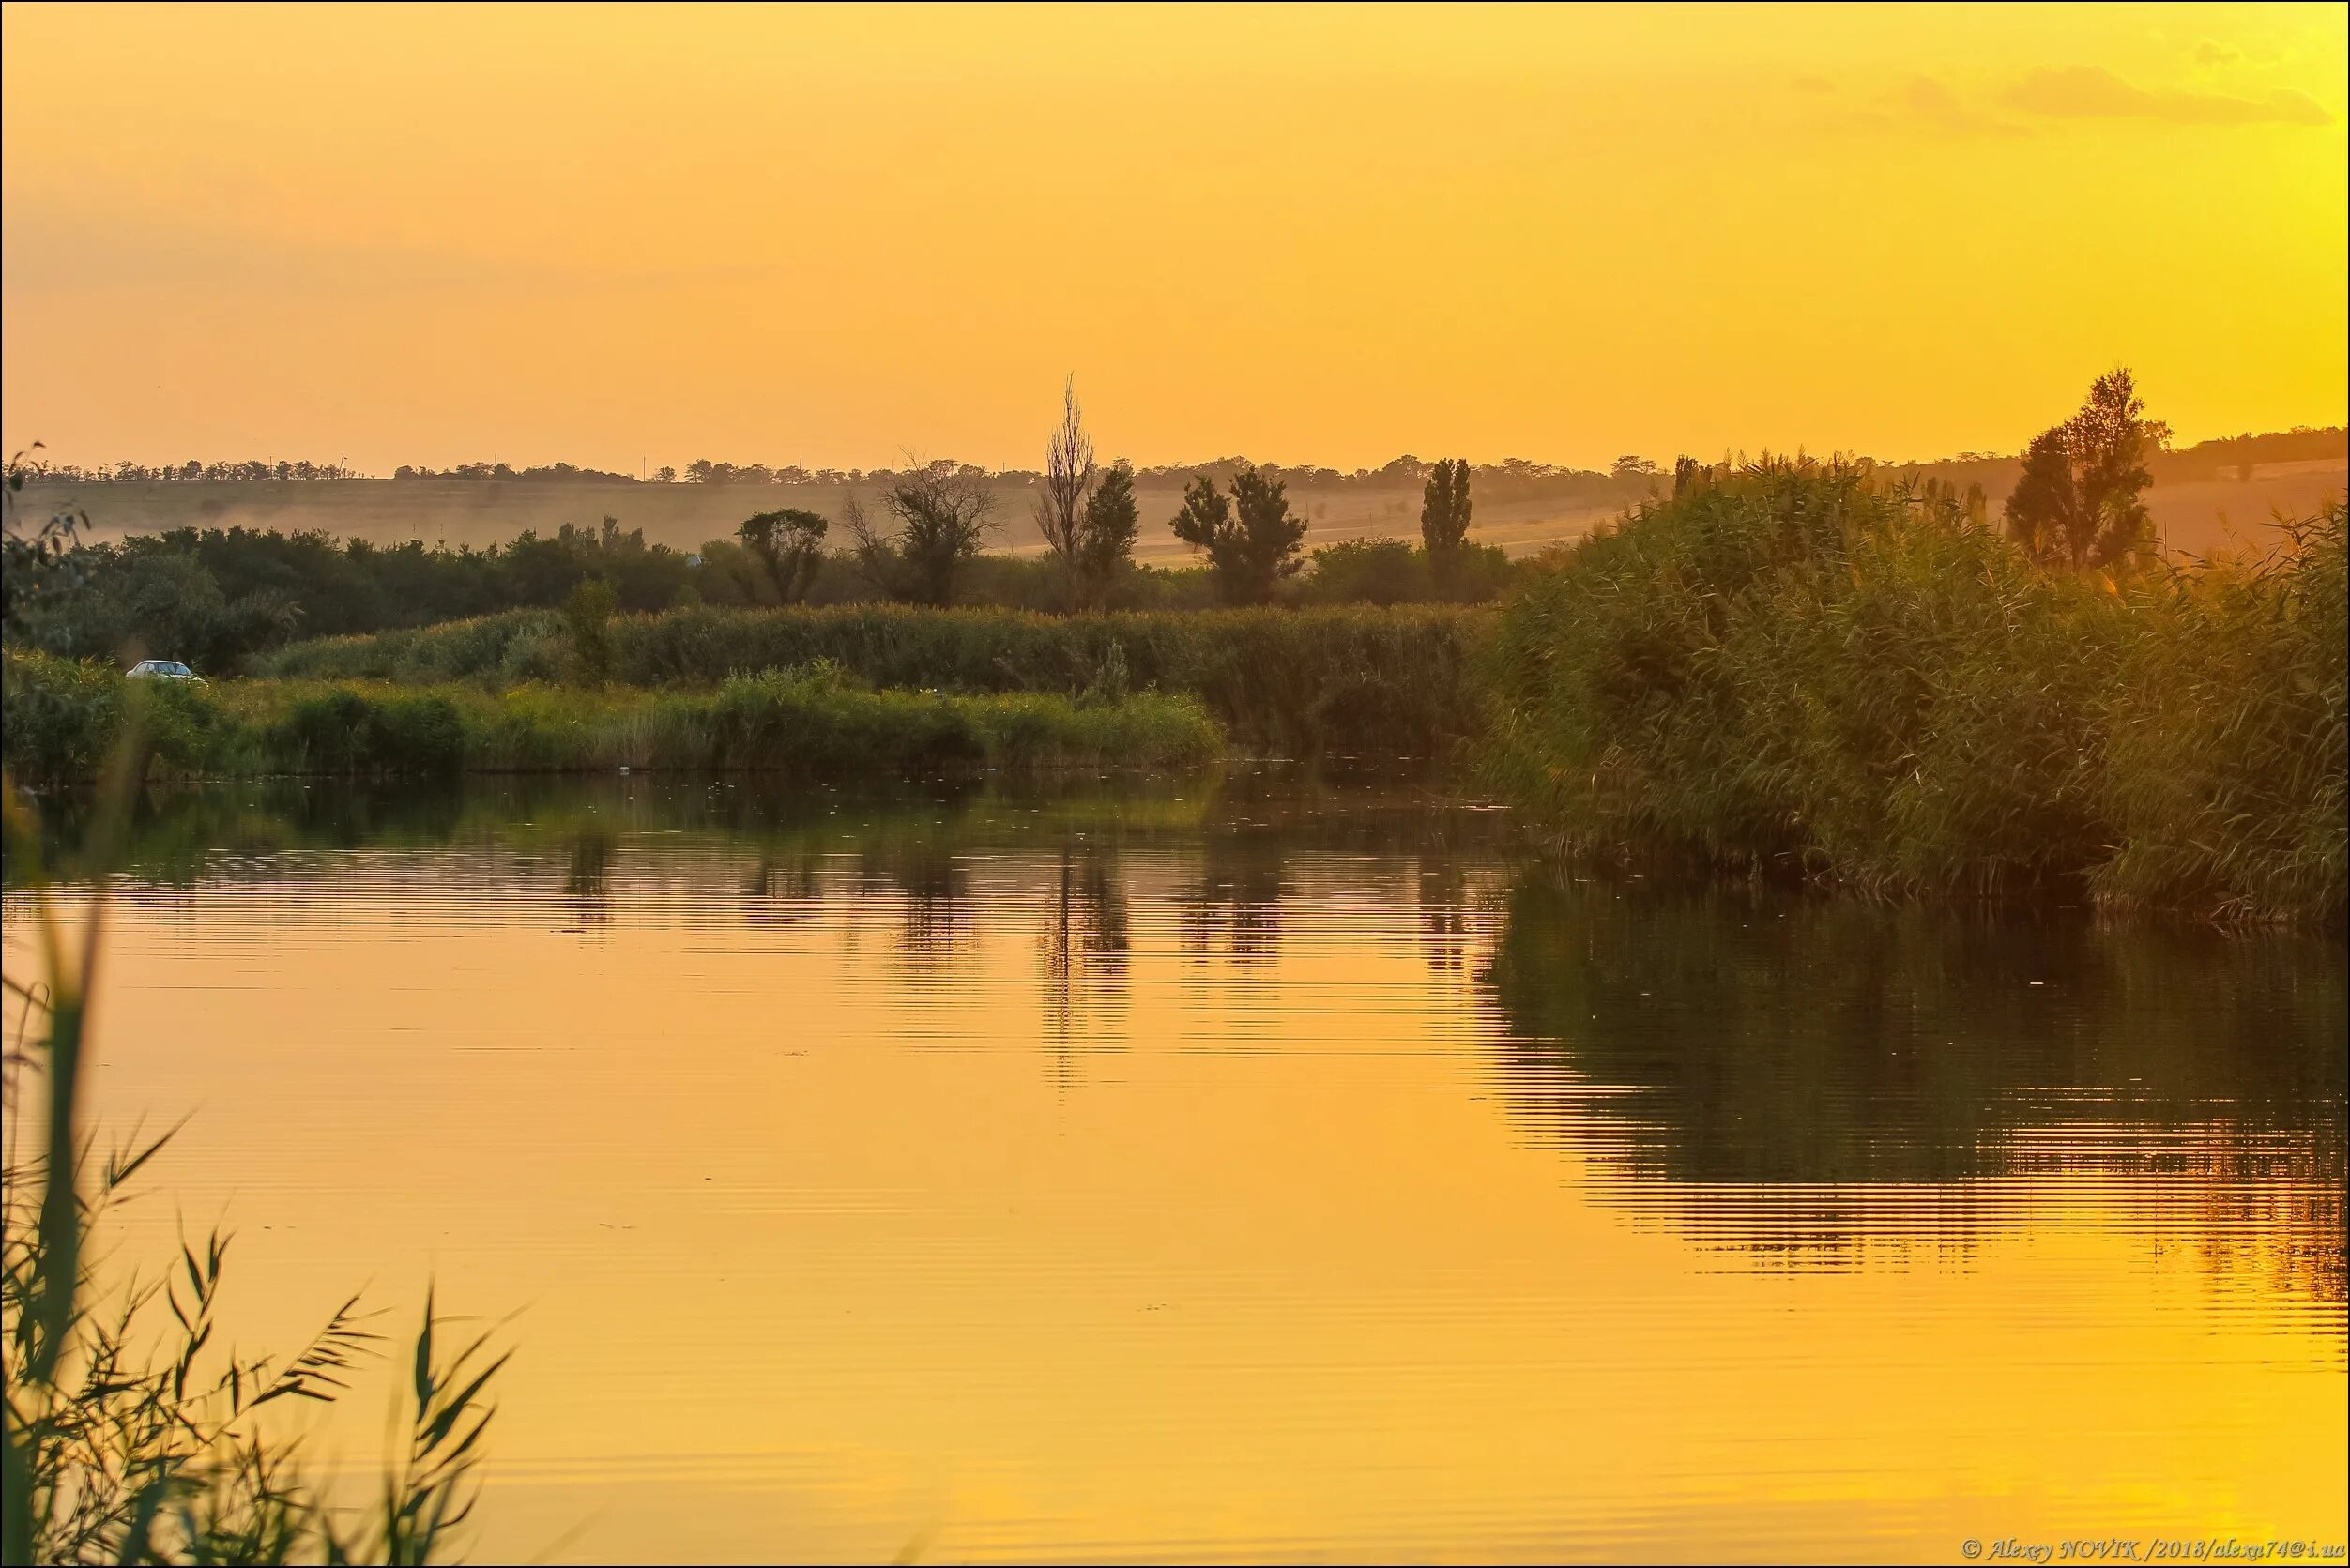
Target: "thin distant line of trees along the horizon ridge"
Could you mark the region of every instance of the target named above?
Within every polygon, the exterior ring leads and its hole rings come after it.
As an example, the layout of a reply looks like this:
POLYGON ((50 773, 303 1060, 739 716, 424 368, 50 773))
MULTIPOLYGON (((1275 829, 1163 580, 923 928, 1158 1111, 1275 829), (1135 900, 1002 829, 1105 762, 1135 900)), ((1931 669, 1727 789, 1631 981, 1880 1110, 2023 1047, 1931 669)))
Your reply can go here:
MULTIPOLYGON (((1946 470, 1981 470, 1967 477, 1986 477, 1993 470, 2021 463, 2023 454, 2000 454, 2000 451, 1958 451, 1943 458, 1922 461, 1871 461, 1875 468, 1887 468, 1896 473, 1908 470, 1934 470, 1946 475, 1946 470)), ((2294 425, 2291 430, 2268 430, 2268 433, 2242 433, 2228 437, 2214 437, 2195 442, 2190 447, 2162 447, 2148 454, 2148 470, 2157 484, 2181 484, 2216 477, 2249 477, 2244 470, 2256 463, 2312 463, 2326 458, 2350 458, 2350 428, 2345 425, 2294 425)), ((799 463, 719 463, 712 458, 696 458, 684 468, 663 465, 651 470, 651 475, 613 473, 606 468, 580 468, 578 463, 536 463, 515 468, 510 463, 456 463, 451 468, 430 468, 423 463, 402 463, 390 475, 374 475, 343 463, 320 463, 320 461, 284 461, 284 458, 244 458, 244 461, 214 461, 204 463, 188 458, 183 463, 56 463, 42 465, 38 480, 47 484, 282 484, 296 480, 470 480, 470 482, 512 482, 512 484, 813 484, 813 487, 858 487, 858 484, 891 484, 912 473, 921 473, 924 465, 909 468, 804 468, 799 463)), ((971 480, 987 480, 1008 487, 1036 487, 1046 482, 1043 470, 1034 468, 982 468, 978 463, 949 463, 949 468, 971 480)), ((1234 473, 1250 468, 1283 484, 1295 484, 1300 489, 1410 489, 1424 484, 1434 463, 1403 454, 1391 458, 1379 468, 1328 468, 1316 463, 1253 463, 1243 456, 1222 456, 1206 463, 1159 463, 1159 465, 1133 465, 1126 463, 1137 484, 1144 487, 1180 487, 1189 484, 1196 475, 1210 475, 1220 482, 1229 480, 1234 473)), ((1626 496, 1638 498, 1647 491, 1650 482, 1659 475, 1671 473, 1671 465, 1659 465, 1652 458, 1638 454, 1624 454, 1607 465, 1598 468, 1572 468, 1558 463, 1535 463, 1528 458, 1502 458, 1499 463, 1471 463, 1471 477, 1476 480, 1480 494, 1490 501, 1532 501, 1532 498, 1572 498, 1572 496, 1626 496)), ((1948 475, 1946 475, 1948 477, 1948 475)))

